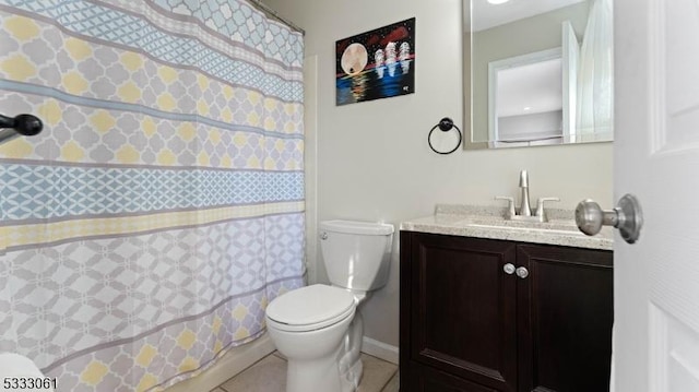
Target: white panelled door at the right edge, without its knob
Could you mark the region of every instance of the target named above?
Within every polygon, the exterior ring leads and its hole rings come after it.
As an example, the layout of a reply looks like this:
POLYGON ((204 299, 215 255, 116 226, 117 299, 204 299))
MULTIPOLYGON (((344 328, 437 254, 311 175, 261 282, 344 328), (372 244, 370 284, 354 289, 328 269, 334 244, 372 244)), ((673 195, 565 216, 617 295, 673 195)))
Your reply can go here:
POLYGON ((616 392, 699 391, 699 2, 615 1, 615 197, 643 209, 615 242, 616 392))

